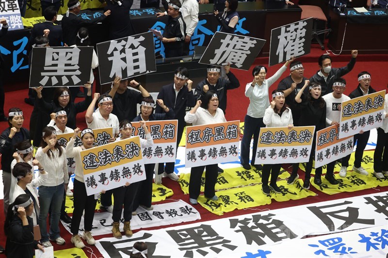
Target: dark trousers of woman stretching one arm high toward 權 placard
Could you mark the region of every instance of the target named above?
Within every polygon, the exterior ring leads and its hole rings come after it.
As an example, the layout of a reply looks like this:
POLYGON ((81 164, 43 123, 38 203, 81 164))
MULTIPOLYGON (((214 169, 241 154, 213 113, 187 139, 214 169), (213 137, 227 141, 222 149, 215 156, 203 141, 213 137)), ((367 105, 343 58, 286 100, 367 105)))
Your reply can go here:
POLYGON ((253 136, 253 152, 251 164, 255 164, 256 151, 258 149, 258 140, 260 134, 260 128, 265 127, 263 118, 254 118, 248 115, 244 120, 244 136, 241 140, 241 164, 249 164, 249 150, 251 145, 251 139, 253 136))

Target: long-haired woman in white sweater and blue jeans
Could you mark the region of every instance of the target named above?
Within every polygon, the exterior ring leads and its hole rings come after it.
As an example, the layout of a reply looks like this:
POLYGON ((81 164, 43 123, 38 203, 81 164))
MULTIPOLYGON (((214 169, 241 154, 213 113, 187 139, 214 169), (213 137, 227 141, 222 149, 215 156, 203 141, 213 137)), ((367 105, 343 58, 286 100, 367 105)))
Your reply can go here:
POLYGON ((69 183, 67 173, 67 159, 65 148, 57 142, 56 130, 54 127, 45 127, 42 133, 41 147, 38 148, 35 158, 49 174, 46 182, 39 187, 40 214, 38 224, 41 242, 45 247, 52 246, 50 241, 57 244, 65 244, 60 236, 59 219, 61 206, 64 198, 64 191, 69 183), (50 234, 47 232, 47 215, 51 204, 50 234))

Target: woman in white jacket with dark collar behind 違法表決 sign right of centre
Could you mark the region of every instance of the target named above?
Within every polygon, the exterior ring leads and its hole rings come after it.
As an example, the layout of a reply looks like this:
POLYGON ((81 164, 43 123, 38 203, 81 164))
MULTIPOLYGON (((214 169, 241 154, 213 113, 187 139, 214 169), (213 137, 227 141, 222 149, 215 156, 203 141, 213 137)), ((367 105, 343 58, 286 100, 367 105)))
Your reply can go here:
MULTIPOLYGON (((284 92, 281 90, 272 91, 271 105, 265 109, 263 123, 266 127, 288 127, 290 130, 293 127, 291 109, 285 104, 286 99, 284 92)), ((256 155, 256 153, 254 153, 256 155)), ((279 176, 280 167, 282 164, 266 164, 263 166, 261 175, 261 188, 265 195, 270 195, 271 189, 280 194, 282 191, 276 185, 277 177, 279 176), (271 174, 271 183, 268 185, 268 179, 271 174)))

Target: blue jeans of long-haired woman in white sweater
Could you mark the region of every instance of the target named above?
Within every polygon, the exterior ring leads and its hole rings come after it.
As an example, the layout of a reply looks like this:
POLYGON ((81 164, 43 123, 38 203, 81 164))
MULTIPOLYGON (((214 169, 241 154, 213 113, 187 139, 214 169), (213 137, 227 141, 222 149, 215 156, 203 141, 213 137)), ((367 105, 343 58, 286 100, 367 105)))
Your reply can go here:
POLYGON ((40 234, 42 235, 42 243, 49 241, 49 234, 47 233, 47 215, 49 213, 50 204, 50 239, 54 240, 60 237, 59 219, 61 217, 61 207, 64 198, 64 191, 64 183, 57 186, 39 186, 40 213, 38 224, 40 228, 40 234))

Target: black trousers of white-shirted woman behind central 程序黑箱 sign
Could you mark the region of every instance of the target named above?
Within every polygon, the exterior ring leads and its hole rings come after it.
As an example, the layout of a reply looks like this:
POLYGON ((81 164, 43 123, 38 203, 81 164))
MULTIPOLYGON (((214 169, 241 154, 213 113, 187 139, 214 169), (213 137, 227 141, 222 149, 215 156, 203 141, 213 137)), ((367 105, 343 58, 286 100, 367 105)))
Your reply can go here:
POLYGON ((211 198, 215 195, 215 183, 218 176, 218 164, 212 164, 207 166, 192 167, 190 173, 189 183, 189 196, 190 198, 197 199, 201 191, 201 178, 203 170, 206 167, 205 172, 205 197, 211 198))

